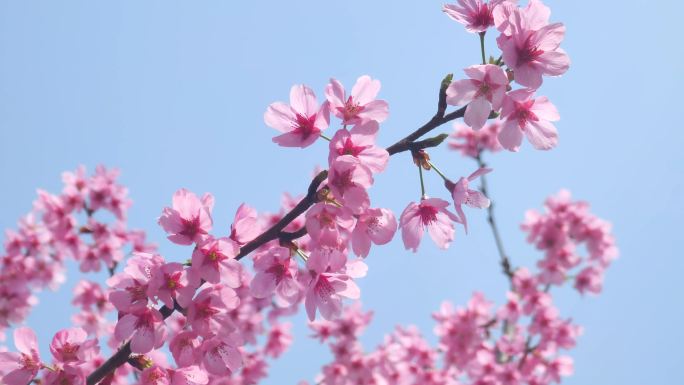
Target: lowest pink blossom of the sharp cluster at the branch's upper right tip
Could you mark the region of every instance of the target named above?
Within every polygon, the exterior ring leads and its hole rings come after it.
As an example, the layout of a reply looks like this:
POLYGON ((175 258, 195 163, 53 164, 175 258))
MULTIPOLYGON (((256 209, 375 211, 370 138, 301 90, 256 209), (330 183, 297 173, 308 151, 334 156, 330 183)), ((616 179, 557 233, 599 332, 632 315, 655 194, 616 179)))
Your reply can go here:
POLYGON ((499 142, 509 151, 520 149, 523 133, 538 150, 549 150, 558 144, 558 131, 551 123, 560 119, 558 110, 546 96, 533 96, 532 90, 520 89, 509 92, 504 99, 499 142))

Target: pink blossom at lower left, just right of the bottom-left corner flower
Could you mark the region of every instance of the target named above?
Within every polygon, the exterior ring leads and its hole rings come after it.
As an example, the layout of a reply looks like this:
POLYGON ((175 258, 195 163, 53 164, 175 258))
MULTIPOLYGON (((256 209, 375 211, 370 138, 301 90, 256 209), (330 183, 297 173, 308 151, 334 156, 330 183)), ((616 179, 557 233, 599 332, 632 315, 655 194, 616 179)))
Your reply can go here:
POLYGON ((88 334, 81 328, 63 329, 52 338, 50 352, 61 363, 81 363, 92 359, 100 351, 97 340, 86 340, 88 334))

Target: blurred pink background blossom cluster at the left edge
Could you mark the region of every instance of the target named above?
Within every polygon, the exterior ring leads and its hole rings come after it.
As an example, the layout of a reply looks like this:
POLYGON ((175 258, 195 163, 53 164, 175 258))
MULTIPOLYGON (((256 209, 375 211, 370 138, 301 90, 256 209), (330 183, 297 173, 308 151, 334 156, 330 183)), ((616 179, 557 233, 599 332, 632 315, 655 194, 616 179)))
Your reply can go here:
POLYGON ((56 289, 64 281, 67 259, 76 260, 83 272, 100 271, 113 269, 130 252, 154 250, 143 231, 126 229, 131 201, 116 182, 118 174, 102 166, 91 176, 83 167, 65 172, 62 193, 38 190, 33 210, 17 230, 5 232, 0 334, 26 318, 37 303, 34 291, 56 289))

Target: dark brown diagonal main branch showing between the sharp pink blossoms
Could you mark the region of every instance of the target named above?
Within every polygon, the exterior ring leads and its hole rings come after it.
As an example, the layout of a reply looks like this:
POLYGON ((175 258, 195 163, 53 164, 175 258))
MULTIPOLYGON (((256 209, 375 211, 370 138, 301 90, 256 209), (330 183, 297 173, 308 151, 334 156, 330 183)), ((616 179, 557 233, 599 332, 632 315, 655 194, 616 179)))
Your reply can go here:
MULTIPOLYGON (((435 128, 443 125, 444 123, 450 122, 454 119, 463 117, 465 113, 465 107, 458 110, 445 114, 447 103, 446 103, 446 89, 451 83, 453 76, 451 74, 447 75, 440 84, 439 88, 439 99, 437 103, 437 112, 435 115, 417 130, 413 131, 411 134, 407 135, 403 139, 400 139, 393 145, 386 148, 390 155, 398 154, 404 151, 416 151, 422 150, 429 147, 439 146, 448 135, 442 134, 435 136, 433 138, 416 141, 423 135, 434 130, 435 128)), ((283 231, 287 225, 292 223, 297 217, 304 214, 309 207, 313 206, 317 201, 317 192, 320 185, 328 177, 328 171, 323 170, 309 184, 306 196, 302 198, 297 205, 292 208, 284 217, 282 217, 276 224, 271 226, 268 230, 261 233, 258 237, 254 238, 252 241, 248 242, 240 248, 240 252, 235 257, 235 259, 240 260, 245 256, 249 255, 254 250, 265 245, 266 243, 280 239, 282 241, 292 241, 297 238, 301 238, 306 235, 306 227, 303 227, 294 232, 283 231)), ((162 306, 159 311, 162 313, 164 319, 168 318, 174 310, 182 310, 177 304, 174 309, 162 306)), ((100 367, 92 372, 86 381, 86 385, 96 385, 105 376, 113 372, 119 366, 125 364, 131 355, 131 343, 126 342, 113 356, 111 356, 107 361, 105 361, 100 367)))

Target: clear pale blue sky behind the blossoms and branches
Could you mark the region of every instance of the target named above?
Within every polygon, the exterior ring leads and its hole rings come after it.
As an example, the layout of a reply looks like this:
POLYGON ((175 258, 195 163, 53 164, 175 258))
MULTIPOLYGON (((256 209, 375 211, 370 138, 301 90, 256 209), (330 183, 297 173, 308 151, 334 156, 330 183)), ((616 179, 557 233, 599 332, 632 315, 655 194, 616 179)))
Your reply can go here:
MULTIPOLYGON (((122 170, 144 228, 169 258, 188 249, 164 241, 156 225, 173 192, 216 196, 216 228, 228 231, 243 201, 277 209, 283 191, 298 193, 325 146, 280 149, 265 127, 266 106, 286 100, 294 83, 322 94, 334 76, 351 85, 370 74, 383 83, 391 115, 380 142, 423 123, 448 72, 478 61, 478 40, 440 12, 441 1, 2 1, 0 2, 0 227, 15 226, 38 187, 57 191, 60 173, 99 163, 122 170), (239 6, 237 6, 239 4, 239 6)), ((567 384, 684 383, 684 44, 679 1, 548 1, 567 25, 572 66, 542 93, 561 112, 560 145, 525 145, 490 158, 491 190, 516 265, 539 255, 518 230, 526 209, 567 187, 614 223, 621 259, 605 292, 559 295, 564 315, 585 327, 576 375, 567 384)), ((494 46, 493 36, 487 43, 494 46)), ((444 127, 448 132, 451 127, 444 127)), ((433 152, 450 175, 474 164, 433 152)), ((417 197, 415 167, 392 159, 373 199, 400 212, 417 197), (406 177, 408 175, 409 177, 406 177)), ((442 194, 439 181, 428 184, 442 194)), ((430 313, 443 299, 464 303, 475 290, 501 301, 506 287, 484 214, 469 212, 447 252, 403 250, 398 239, 368 260, 361 281, 375 322, 369 346, 395 324, 431 334, 430 313)), ((428 245, 428 243, 426 243, 428 245)), ((47 339, 69 323, 70 284, 43 293, 29 324, 47 339)), ((326 349, 305 336, 271 369, 269 384, 312 379, 326 349)))

